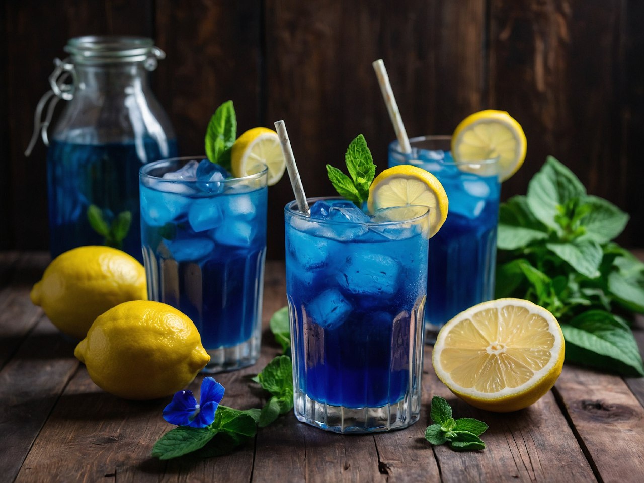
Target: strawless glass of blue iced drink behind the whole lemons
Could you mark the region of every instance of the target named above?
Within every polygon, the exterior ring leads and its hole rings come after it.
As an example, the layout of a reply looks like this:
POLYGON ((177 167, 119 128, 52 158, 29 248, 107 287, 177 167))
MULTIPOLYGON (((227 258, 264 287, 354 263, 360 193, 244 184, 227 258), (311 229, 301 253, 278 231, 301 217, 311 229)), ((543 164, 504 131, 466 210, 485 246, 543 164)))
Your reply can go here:
POLYGON ((267 169, 232 178, 204 158, 140 169, 150 300, 181 310, 211 355, 204 372, 254 364, 261 343, 267 169))

